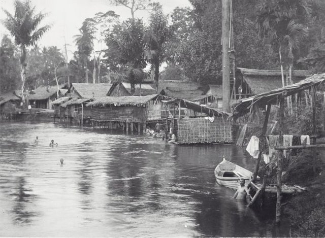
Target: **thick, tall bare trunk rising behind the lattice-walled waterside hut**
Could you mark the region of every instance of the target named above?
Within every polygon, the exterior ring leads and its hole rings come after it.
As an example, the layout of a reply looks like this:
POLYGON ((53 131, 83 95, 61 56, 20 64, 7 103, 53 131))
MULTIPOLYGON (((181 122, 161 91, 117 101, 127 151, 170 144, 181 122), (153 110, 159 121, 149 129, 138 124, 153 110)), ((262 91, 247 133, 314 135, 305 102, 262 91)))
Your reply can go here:
POLYGON ((230 58, 229 58, 229 9, 230 0, 221 0, 222 19, 221 19, 221 44, 222 44, 222 109, 230 112, 230 58))

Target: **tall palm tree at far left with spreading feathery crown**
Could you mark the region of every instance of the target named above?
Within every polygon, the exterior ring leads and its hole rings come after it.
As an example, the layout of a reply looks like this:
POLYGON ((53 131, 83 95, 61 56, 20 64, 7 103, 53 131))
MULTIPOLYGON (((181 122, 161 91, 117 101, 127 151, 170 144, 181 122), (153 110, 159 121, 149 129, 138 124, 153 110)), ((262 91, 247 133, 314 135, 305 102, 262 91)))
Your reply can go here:
POLYGON ((45 14, 36 13, 35 7, 32 7, 29 1, 21 2, 16 0, 14 3, 15 14, 11 15, 8 11, 4 10, 7 19, 3 21, 5 27, 10 31, 11 35, 15 38, 15 42, 20 46, 20 75, 21 75, 21 92, 22 101, 26 107, 28 104, 28 97, 25 93, 25 80, 26 80, 26 50, 28 46, 35 45, 44 33, 50 28, 49 25, 38 28, 41 21, 44 19, 45 14))

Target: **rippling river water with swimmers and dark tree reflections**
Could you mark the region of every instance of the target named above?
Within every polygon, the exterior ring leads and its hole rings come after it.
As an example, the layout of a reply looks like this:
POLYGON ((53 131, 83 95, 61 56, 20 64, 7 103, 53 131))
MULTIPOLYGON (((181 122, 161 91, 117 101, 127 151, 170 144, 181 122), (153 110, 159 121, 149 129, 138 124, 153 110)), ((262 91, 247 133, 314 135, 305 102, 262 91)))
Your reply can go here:
POLYGON ((0 153, 0 236, 289 236, 273 210, 246 208, 216 184, 222 156, 253 169, 236 146, 1 123, 0 153))

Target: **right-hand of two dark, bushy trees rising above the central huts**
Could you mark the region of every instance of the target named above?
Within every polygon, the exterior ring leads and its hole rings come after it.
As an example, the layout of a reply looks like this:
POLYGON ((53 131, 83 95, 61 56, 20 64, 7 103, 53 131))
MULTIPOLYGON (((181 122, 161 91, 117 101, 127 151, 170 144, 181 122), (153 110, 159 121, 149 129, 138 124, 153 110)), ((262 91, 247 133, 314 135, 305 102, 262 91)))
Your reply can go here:
POLYGON ((144 34, 146 54, 154 73, 156 92, 158 92, 159 66, 167 59, 165 43, 170 38, 168 18, 158 6, 150 15, 149 27, 144 34))

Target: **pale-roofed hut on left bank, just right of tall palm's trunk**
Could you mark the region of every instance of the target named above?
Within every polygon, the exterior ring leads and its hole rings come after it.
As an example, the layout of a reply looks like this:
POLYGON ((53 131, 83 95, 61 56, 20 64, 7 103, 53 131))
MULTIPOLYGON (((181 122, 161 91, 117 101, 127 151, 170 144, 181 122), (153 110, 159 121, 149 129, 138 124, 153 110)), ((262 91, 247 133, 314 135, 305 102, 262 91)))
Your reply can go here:
MULTIPOLYGON (((64 87, 65 85, 59 85, 59 96, 67 92, 64 87)), ((29 104, 33 108, 52 109, 51 103, 57 98, 57 86, 40 86, 28 94, 29 104)))

